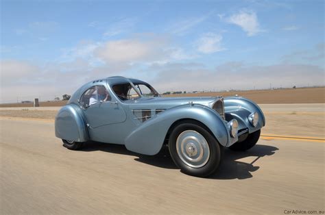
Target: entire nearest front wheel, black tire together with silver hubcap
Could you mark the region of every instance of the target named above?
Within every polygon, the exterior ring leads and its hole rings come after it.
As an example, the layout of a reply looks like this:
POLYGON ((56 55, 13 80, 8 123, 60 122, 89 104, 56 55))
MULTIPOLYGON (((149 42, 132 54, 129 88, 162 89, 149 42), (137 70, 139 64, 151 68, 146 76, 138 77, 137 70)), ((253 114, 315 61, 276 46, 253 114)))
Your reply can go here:
POLYGON ((184 121, 173 128, 169 153, 182 173, 196 177, 212 175, 221 161, 219 142, 196 121, 184 121))

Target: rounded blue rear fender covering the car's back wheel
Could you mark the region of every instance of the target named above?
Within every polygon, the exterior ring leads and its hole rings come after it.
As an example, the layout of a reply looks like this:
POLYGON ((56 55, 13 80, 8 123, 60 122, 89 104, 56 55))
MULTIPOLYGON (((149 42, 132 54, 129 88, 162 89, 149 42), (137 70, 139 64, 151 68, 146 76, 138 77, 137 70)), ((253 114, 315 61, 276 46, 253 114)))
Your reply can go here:
POLYGON ((86 142, 88 130, 80 107, 73 104, 63 106, 56 115, 56 137, 75 142, 86 142))

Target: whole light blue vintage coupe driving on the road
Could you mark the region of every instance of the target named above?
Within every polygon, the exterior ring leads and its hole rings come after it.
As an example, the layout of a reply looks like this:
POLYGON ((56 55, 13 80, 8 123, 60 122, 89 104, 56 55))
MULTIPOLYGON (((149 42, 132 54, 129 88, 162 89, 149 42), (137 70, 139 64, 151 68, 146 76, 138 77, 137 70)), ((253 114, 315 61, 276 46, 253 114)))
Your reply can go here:
POLYGON ((115 76, 79 88, 55 123, 68 149, 92 140, 156 155, 165 145, 183 173, 206 177, 217 170, 224 147, 254 147, 265 117, 243 97, 160 97, 145 81, 115 76))

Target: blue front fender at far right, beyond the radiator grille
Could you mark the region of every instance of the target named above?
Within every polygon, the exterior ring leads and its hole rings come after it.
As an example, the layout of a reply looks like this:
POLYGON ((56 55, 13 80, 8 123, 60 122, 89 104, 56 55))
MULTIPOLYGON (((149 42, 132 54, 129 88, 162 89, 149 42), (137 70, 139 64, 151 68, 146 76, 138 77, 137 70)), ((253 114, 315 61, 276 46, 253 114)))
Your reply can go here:
POLYGON ((224 99, 226 120, 230 121, 236 118, 239 122, 239 130, 248 128, 249 133, 257 131, 265 126, 265 116, 254 101, 243 97, 226 97, 224 99), (259 119, 256 127, 252 126, 248 121, 248 116, 253 112, 257 112, 259 119))

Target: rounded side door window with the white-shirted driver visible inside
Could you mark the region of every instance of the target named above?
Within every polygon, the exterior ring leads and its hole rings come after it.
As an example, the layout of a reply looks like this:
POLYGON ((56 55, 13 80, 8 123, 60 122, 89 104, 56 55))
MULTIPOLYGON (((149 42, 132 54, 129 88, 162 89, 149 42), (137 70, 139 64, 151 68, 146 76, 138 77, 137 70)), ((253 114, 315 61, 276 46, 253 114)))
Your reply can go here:
POLYGON ((94 105, 95 103, 99 103, 99 101, 110 101, 110 94, 108 94, 106 88, 104 86, 92 86, 84 94, 80 99, 80 105, 83 108, 88 108, 90 105, 94 105))

